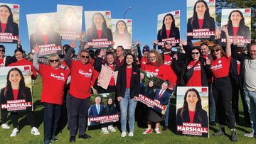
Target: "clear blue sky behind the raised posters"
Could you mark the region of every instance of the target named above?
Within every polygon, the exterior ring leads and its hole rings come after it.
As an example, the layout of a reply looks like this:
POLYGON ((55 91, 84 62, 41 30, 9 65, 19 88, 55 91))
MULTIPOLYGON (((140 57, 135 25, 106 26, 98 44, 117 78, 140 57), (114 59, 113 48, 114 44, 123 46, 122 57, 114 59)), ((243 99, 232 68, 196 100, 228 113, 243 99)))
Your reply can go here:
MULTIPOLYGON (((157 15, 169 11, 181 10, 181 38, 186 40, 186 0, 1 0, 0 3, 20 5, 19 37, 23 50, 30 52, 26 14, 50 13, 57 11, 57 4, 82 6, 82 11, 111 11, 112 18, 132 19, 132 40, 139 40, 142 46, 156 40, 157 15)), ((82 16, 82 31, 85 19, 82 16)), ((3 44, 3 43, 1 43, 3 44)), ((67 41, 62 43, 69 44, 67 41)), ((6 55, 14 55, 16 45, 3 44, 6 55)))

